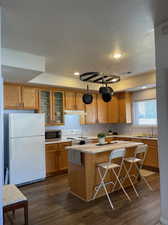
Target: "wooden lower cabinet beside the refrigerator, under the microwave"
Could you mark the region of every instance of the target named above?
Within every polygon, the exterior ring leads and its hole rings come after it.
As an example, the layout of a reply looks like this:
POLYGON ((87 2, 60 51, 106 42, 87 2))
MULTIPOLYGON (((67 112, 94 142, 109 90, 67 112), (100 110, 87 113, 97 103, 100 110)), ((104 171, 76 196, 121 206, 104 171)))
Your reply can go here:
POLYGON ((68 169, 68 152, 66 146, 71 142, 46 144, 46 175, 47 177, 66 172, 68 169))

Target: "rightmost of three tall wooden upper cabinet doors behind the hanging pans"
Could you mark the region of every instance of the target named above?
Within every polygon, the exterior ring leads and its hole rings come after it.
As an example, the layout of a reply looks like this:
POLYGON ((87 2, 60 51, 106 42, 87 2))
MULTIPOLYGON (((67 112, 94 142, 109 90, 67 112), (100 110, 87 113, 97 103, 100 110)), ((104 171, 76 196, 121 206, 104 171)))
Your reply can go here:
POLYGON ((117 96, 113 96, 112 100, 108 102, 108 123, 118 123, 119 122, 119 105, 117 96))

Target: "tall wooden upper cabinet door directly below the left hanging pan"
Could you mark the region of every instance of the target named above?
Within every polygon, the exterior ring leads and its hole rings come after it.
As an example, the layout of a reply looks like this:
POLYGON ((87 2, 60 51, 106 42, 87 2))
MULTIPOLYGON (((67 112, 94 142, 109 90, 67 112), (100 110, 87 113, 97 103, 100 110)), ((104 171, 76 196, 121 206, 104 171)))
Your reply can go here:
POLYGON ((97 123, 97 95, 93 94, 93 102, 86 104, 86 124, 97 123))

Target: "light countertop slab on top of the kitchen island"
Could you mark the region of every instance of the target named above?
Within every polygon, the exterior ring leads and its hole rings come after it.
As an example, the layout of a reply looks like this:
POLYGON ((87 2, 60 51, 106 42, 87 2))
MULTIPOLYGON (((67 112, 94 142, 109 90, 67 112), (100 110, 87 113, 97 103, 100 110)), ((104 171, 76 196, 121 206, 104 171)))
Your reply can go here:
POLYGON ((143 143, 132 142, 132 141, 111 141, 105 145, 99 145, 97 143, 85 144, 85 145, 73 145, 66 147, 67 150, 76 150, 83 153, 97 154, 101 152, 112 151, 120 148, 132 148, 143 143))

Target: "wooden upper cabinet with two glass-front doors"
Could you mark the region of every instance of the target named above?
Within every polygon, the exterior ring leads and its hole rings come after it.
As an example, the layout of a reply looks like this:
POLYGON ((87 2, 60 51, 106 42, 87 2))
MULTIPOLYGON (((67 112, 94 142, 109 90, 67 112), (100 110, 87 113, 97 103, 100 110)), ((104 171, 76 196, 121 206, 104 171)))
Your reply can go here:
POLYGON ((39 112, 45 113, 46 125, 63 125, 64 92, 41 89, 39 91, 39 112))

